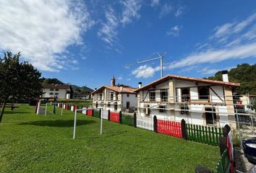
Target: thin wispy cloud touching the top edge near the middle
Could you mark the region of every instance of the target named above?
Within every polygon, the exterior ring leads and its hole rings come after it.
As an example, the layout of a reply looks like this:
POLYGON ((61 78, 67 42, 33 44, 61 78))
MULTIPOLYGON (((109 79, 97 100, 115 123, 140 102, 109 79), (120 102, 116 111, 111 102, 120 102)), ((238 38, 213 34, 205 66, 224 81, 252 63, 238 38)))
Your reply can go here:
POLYGON ((126 25, 129 22, 132 22, 133 18, 140 17, 140 14, 139 14, 139 11, 141 8, 140 0, 121 1, 121 4, 123 5, 123 12, 121 15, 121 23, 123 25, 126 25))

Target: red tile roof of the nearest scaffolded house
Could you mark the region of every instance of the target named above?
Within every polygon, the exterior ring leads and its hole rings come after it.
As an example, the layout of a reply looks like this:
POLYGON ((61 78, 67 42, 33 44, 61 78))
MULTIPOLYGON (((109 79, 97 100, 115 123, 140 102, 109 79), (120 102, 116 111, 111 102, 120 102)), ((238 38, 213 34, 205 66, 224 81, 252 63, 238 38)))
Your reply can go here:
POLYGON ((215 85, 224 85, 224 86, 231 86, 231 87, 240 86, 239 83, 234 83, 234 82, 214 81, 214 80, 210 80, 210 79, 200 79, 200 78, 193 78, 193 77, 186 77, 186 76, 168 75, 168 76, 164 76, 161 79, 153 81, 150 84, 142 86, 140 89, 136 89, 135 92, 139 92, 142 89, 148 89, 151 86, 161 84, 164 81, 168 81, 168 79, 179 79, 179 80, 184 80, 184 81, 197 81, 197 82, 204 83, 204 84, 215 84, 215 85))

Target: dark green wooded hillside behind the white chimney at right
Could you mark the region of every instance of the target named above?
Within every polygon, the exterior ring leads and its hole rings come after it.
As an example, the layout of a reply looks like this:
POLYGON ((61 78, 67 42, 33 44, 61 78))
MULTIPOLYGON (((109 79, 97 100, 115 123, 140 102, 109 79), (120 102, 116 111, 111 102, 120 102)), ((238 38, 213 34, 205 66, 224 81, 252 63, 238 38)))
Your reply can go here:
MULTIPOLYGON (((221 71, 218 71, 215 76, 210 76, 206 79, 222 81, 221 71)), ((237 65, 236 68, 231 68, 229 81, 241 83, 240 88, 236 90, 237 92, 256 94, 256 63, 254 65, 243 63, 237 65)))

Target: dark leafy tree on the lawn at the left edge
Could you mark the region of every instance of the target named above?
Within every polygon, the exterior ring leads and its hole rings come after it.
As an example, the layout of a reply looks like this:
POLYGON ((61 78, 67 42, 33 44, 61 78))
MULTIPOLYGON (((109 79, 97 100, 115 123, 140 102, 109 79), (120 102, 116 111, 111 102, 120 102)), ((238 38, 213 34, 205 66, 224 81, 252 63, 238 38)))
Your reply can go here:
POLYGON ((4 53, 4 58, 0 58, 0 102, 3 103, 0 122, 9 98, 29 101, 40 96, 43 82, 40 76, 32 64, 20 63, 20 53, 14 56, 11 52, 4 53))

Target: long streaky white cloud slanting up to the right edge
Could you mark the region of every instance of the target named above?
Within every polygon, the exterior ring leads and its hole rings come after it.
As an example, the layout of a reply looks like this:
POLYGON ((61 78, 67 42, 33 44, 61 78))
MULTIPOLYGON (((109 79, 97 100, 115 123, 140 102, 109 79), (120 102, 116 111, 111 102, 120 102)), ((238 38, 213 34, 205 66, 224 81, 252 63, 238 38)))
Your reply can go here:
MULTIPOLYGON (((205 65, 205 63, 231 61, 231 59, 256 58, 256 24, 253 23, 255 19, 256 13, 242 22, 227 22, 225 25, 216 27, 210 42, 197 43, 195 45, 198 46, 197 51, 189 53, 179 61, 169 63, 168 69, 189 68, 200 64, 205 65), (247 30, 244 30, 244 27, 247 27, 247 30), (223 42, 220 43, 220 40, 223 42)), ((215 70, 219 69, 208 70, 208 73, 212 74, 215 70)))

